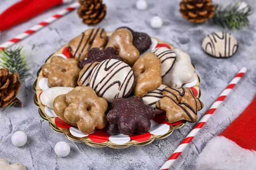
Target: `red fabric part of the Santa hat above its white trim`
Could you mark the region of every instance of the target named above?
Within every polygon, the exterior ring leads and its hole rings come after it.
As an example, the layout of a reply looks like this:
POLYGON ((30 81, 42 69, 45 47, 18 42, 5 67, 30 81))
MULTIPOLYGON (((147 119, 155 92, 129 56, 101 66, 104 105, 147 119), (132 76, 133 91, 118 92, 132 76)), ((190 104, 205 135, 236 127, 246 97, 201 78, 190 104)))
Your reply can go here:
POLYGON ((219 136, 224 136, 240 147, 256 150, 256 97, 219 136))

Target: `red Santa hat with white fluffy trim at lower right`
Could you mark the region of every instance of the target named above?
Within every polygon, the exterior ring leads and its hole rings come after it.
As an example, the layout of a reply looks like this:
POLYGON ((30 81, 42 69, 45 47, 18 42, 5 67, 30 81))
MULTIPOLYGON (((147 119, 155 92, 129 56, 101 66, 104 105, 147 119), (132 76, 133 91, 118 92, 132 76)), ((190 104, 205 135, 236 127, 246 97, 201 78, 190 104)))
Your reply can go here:
POLYGON ((256 170, 256 98, 198 156, 198 170, 256 170))

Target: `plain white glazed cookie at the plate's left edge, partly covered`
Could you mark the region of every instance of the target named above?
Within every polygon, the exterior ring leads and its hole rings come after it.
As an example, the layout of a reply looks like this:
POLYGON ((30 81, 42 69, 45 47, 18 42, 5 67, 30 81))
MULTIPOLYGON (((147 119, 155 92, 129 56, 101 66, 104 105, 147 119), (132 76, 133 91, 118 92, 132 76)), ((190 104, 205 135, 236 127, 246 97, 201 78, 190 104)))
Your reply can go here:
POLYGON ((72 91, 73 88, 70 87, 52 87, 48 88, 47 90, 43 91, 40 96, 40 100, 47 108, 53 109, 53 101, 54 99, 61 95, 67 94, 68 92, 72 91))

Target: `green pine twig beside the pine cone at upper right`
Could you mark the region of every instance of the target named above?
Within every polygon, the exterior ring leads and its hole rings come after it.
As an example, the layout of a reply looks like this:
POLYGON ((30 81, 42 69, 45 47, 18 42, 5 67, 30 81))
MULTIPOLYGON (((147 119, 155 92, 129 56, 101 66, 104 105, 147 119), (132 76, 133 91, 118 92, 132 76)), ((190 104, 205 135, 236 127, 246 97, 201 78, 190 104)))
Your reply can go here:
POLYGON ((247 17, 252 14, 251 7, 247 5, 240 9, 240 3, 241 2, 236 3, 235 6, 230 4, 227 7, 217 4, 215 14, 212 18, 213 22, 223 28, 237 30, 250 26, 250 22, 247 17))

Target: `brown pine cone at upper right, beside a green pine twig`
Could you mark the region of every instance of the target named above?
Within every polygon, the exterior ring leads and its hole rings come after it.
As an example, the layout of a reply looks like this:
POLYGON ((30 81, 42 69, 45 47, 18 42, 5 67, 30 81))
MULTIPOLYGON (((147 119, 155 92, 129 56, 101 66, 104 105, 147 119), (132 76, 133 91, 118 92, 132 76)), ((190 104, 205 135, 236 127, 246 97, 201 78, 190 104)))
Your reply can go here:
POLYGON ((192 23, 203 23, 214 15, 212 0, 183 0, 180 2, 182 17, 192 23))

